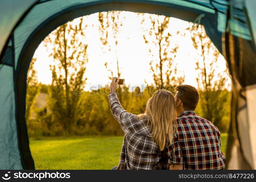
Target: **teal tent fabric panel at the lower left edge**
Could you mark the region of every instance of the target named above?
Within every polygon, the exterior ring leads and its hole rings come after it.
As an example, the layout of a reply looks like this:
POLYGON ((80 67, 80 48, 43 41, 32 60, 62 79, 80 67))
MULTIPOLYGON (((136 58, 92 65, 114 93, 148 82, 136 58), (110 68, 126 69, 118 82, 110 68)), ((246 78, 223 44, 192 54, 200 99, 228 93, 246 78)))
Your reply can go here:
POLYGON ((15 120, 13 68, 3 65, 0 71, 0 169, 23 169, 18 149, 15 120))

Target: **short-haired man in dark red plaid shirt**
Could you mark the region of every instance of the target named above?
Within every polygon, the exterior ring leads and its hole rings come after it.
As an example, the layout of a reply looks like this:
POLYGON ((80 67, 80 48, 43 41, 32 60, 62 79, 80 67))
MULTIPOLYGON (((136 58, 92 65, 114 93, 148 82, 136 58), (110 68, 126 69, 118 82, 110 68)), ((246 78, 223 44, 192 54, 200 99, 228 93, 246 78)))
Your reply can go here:
MULTIPOLYGON (((180 85, 174 97, 176 102, 178 145, 170 145, 183 157, 183 169, 224 169, 225 156, 221 152, 221 133, 210 121, 195 113, 199 92, 195 87, 180 85), (174 148, 175 147, 175 148, 174 148)), ((170 169, 173 169, 170 163, 170 169)))

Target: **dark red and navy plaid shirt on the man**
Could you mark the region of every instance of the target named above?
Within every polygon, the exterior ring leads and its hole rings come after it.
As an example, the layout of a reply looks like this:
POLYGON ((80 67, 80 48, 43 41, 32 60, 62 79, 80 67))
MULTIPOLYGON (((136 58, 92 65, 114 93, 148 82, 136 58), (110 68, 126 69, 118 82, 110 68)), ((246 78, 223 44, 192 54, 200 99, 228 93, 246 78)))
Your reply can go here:
POLYGON ((177 122, 178 142, 169 146, 168 152, 183 157, 184 169, 225 168, 225 156, 221 152, 221 133, 214 124, 192 110, 182 112, 177 122))

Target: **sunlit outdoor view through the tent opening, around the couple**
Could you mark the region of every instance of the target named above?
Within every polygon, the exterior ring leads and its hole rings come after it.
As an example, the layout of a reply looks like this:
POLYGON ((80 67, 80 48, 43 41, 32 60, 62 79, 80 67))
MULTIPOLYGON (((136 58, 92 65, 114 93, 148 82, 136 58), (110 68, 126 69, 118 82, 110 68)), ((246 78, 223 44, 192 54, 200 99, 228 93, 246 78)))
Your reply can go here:
POLYGON ((118 164, 123 132, 108 103, 113 76, 125 79, 118 97, 133 114, 143 112, 158 88, 196 87, 196 113, 219 128, 226 152, 231 79, 202 25, 104 11, 68 21, 42 39, 34 44, 26 78, 25 118, 35 169, 118 164))

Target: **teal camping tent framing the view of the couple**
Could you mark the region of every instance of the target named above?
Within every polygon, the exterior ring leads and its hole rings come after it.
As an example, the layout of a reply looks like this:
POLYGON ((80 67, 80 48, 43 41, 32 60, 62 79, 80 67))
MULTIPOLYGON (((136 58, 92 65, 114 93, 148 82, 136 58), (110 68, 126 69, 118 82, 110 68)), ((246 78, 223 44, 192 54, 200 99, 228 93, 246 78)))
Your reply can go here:
POLYGON ((95 12, 155 13, 203 24, 232 77, 227 169, 256 169, 255 0, 1 0, 0 169, 34 169, 25 121, 26 76, 39 43, 95 12))

